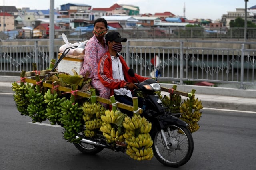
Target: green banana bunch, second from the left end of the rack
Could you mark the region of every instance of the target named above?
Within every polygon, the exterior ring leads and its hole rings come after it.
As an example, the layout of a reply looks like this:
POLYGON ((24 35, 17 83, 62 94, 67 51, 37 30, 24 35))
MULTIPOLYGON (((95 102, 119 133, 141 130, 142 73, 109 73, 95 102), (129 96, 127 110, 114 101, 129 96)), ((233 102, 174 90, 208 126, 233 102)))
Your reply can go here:
POLYGON ((46 104, 44 103, 44 95, 38 93, 38 86, 35 89, 28 88, 28 93, 25 95, 29 100, 27 107, 28 116, 32 118, 32 122, 42 122, 46 120, 46 104))

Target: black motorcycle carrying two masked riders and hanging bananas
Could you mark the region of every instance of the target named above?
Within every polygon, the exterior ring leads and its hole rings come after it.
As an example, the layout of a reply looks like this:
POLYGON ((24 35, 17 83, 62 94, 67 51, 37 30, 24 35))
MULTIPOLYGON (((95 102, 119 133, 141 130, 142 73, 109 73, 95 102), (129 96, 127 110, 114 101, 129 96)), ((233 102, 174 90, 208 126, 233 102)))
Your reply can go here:
MULTIPOLYGON (((128 73, 135 77, 133 69, 128 73)), ((178 118, 181 113, 170 113, 163 107, 155 93, 161 90, 157 78, 134 84, 138 87, 134 89, 134 93, 140 92, 143 95, 143 116, 152 123, 150 136, 153 140, 154 156, 165 166, 179 167, 186 164, 192 156, 194 142, 187 128, 188 124, 178 118)), ((100 132, 94 138, 88 138, 84 134, 77 134, 76 138, 82 138, 80 142, 74 143, 74 146, 84 154, 97 154, 104 148, 116 152, 126 151, 124 146, 108 144, 100 132)))

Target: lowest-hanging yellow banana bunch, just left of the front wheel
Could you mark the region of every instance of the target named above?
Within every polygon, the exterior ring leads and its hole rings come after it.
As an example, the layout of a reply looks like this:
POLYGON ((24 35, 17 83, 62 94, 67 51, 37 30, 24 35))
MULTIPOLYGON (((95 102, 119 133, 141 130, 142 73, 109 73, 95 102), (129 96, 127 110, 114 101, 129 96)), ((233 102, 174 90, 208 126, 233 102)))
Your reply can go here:
POLYGON ((149 134, 152 124, 145 117, 134 114, 124 118, 123 126, 126 154, 135 160, 150 160, 153 157, 153 140, 149 134))

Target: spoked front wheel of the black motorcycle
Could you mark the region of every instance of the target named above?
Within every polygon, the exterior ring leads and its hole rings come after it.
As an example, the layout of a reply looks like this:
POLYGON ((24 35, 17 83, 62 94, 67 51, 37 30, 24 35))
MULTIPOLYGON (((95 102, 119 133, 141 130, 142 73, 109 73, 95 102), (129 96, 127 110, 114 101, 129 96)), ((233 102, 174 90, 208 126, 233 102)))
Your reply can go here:
POLYGON ((192 156, 194 141, 190 131, 184 126, 170 125, 156 131, 152 139, 154 156, 165 166, 182 166, 192 156))

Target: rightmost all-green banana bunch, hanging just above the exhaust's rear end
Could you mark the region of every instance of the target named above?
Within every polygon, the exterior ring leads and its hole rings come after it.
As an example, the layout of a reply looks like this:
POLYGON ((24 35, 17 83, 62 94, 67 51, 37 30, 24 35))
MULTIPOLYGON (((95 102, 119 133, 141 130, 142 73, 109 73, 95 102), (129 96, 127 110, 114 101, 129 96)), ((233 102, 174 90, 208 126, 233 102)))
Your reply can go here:
POLYGON ((68 142, 79 142, 79 139, 76 139, 76 134, 81 132, 83 123, 82 107, 78 106, 78 103, 73 104, 71 100, 66 99, 60 103, 61 106, 61 115, 60 120, 64 127, 64 139, 68 142))

